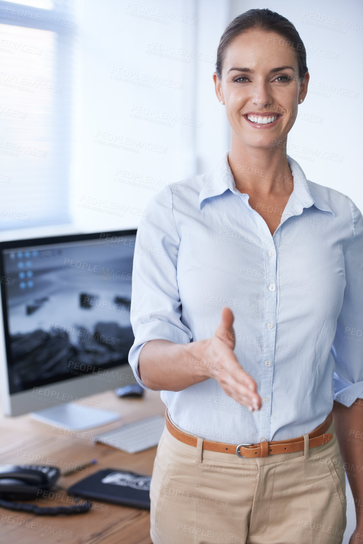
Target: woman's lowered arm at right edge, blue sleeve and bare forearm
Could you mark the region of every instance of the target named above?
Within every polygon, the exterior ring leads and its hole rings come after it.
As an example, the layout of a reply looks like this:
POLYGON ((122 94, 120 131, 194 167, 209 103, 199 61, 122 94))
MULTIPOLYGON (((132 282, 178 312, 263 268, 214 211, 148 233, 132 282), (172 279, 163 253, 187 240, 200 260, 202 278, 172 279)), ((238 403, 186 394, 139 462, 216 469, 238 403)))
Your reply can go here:
POLYGON ((356 511, 352 544, 363 540, 363 217, 348 203, 352 239, 344 253, 346 287, 331 353, 335 430, 356 511))

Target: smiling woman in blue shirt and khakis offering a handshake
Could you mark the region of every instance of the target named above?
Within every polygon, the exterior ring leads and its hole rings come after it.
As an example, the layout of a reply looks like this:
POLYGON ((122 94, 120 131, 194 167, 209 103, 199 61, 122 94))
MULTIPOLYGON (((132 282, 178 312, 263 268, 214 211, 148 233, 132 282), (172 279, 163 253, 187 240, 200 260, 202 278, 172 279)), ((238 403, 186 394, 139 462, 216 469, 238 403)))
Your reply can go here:
POLYGON ((151 538, 341 542, 340 450, 363 504, 363 218, 286 154, 309 82, 290 21, 235 18, 213 79, 231 149, 153 197, 134 256, 129 360, 167 406, 151 538))

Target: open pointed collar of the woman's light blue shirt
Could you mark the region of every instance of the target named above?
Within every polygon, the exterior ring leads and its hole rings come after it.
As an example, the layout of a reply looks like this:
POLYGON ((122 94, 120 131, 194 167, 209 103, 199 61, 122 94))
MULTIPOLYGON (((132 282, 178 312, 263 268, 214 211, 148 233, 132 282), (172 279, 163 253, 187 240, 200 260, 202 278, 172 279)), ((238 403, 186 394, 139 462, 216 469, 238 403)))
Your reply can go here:
MULTIPOLYGON (((204 200, 222 195, 227 189, 241 196, 241 193, 236 189, 235 180, 228 163, 228 154, 229 151, 226 151, 219 162, 208 172, 206 183, 199 193, 199 209, 201 209, 204 200)), ((294 178, 294 188, 285 209, 285 214, 299 215, 303 212, 303 208, 310 208, 314 205, 324 212, 333 213, 335 216, 327 198, 324 199, 321 191, 318 190, 318 186, 314 187, 315 184, 306 180, 306 176, 296 160, 287 155, 287 162, 294 178)))

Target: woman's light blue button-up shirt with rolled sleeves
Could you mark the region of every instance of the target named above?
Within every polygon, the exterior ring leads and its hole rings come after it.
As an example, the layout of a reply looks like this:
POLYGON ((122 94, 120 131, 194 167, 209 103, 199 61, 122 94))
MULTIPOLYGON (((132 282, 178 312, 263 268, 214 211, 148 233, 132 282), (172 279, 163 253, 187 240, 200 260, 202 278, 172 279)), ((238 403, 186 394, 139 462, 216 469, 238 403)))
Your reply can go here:
POLYGON ((147 388, 138 370, 145 343, 209 338, 229 306, 235 354, 257 382, 261 410, 250 413, 210 378, 161 392, 171 419, 233 444, 302 436, 334 398, 346 406, 363 398, 362 214, 287 157, 294 187, 272 236, 236 189, 227 155, 147 206, 133 262, 129 362, 147 388))

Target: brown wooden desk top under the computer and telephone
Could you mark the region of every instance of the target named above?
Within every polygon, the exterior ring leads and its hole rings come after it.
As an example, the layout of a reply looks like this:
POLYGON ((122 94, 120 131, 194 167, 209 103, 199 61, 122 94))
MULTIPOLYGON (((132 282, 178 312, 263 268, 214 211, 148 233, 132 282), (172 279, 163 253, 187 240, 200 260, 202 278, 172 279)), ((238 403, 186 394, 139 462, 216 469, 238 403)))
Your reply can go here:
MULTIPOLYGON (((156 447, 128 454, 94 443, 92 437, 137 419, 164 415, 160 393, 145 390, 143 399, 119 399, 107 391, 89 399, 104 404, 106 410, 119 412, 122 419, 87 431, 53 432, 52 426, 36 422, 28 415, 0 417, 0 464, 55 465, 66 471, 91 459, 98 460, 97 465, 85 468, 82 473, 59 478, 57 484, 66 489, 102 468, 129 469, 151 475, 156 447)), ((33 504, 72 504, 65 491, 56 492, 59 497, 51 496, 33 504)), ((35 516, 0 508, 0 544, 152 544, 149 531, 149 511, 115 504, 95 502, 94 508, 86 514, 73 516, 35 516)))

